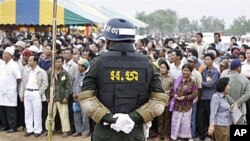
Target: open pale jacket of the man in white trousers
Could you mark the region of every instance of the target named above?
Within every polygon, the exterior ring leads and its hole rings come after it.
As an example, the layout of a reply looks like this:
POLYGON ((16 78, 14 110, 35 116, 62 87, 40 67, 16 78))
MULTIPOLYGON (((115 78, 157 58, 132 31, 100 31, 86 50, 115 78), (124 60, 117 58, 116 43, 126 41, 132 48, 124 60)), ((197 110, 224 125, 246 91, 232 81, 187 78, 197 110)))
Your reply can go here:
MULTIPOLYGON (((20 85, 20 91, 19 91, 19 96, 23 97, 24 96, 24 91, 26 90, 26 86, 29 80, 29 75, 30 75, 31 67, 25 67, 23 70, 23 78, 21 81, 20 85)), ((36 67, 35 69, 36 72, 36 79, 37 79, 37 84, 39 87, 39 94, 44 95, 46 89, 48 88, 48 76, 47 73, 41 69, 39 66, 36 67)))

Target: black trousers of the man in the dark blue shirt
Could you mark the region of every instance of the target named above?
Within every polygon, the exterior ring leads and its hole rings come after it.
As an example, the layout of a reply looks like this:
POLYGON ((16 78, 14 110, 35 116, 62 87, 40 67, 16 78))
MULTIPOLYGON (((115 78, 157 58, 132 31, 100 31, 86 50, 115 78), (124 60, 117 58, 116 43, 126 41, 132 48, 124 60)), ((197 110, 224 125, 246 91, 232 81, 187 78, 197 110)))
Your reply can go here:
POLYGON ((198 101, 196 127, 200 139, 205 139, 207 136, 210 116, 210 102, 211 100, 198 101))

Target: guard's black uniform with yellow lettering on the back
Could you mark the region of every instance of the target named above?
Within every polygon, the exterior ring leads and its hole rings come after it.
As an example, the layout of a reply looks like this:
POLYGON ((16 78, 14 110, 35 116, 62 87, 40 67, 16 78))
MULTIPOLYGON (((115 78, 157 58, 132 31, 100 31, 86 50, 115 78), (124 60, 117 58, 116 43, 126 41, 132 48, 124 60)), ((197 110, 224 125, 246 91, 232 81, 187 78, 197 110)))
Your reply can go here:
MULTIPOLYGON (((97 99, 112 114, 125 113, 130 117, 138 117, 135 110, 148 102, 151 92, 164 93, 159 73, 147 56, 135 52, 131 43, 115 43, 109 52, 95 58, 83 84, 82 91, 95 90, 97 99)), ((133 120, 136 125, 129 134, 97 124, 93 140, 145 140, 143 119, 133 120)))

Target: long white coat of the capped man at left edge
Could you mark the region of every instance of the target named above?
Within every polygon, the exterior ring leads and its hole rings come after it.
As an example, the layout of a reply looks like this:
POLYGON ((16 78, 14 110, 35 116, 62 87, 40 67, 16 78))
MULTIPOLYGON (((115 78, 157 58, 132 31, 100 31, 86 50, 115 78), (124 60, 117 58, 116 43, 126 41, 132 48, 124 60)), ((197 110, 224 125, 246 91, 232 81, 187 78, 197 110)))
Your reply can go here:
POLYGON ((21 79, 21 71, 12 59, 0 65, 0 105, 17 106, 17 79, 21 79))

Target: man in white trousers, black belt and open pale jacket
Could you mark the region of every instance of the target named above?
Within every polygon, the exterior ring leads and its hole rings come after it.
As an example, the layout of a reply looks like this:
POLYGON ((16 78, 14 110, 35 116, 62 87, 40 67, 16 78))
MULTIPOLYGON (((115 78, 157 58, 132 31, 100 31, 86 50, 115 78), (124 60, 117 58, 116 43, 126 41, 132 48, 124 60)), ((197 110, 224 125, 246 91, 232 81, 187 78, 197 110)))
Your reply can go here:
POLYGON ((23 79, 20 86, 20 99, 24 102, 26 133, 24 136, 35 137, 42 132, 42 96, 48 87, 48 77, 45 70, 38 64, 39 57, 32 55, 29 57, 29 67, 23 71, 23 79))

